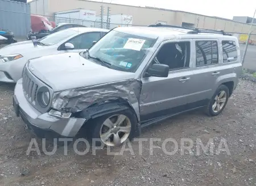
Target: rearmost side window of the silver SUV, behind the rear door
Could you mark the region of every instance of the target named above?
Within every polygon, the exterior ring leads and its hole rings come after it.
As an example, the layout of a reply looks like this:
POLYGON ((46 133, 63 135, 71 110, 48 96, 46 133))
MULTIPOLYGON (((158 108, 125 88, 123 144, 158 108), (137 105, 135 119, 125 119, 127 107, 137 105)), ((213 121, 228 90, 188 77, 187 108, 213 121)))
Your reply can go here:
POLYGON ((233 41, 222 41, 223 63, 237 60, 237 46, 233 41))

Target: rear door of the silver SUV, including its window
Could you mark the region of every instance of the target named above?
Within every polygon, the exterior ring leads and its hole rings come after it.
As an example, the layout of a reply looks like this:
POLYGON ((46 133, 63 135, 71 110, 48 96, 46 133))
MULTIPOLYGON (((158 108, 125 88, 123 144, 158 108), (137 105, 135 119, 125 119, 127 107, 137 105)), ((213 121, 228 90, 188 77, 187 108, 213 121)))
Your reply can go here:
POLYGON ((220 42, 218 39, 193 39, 193 78, 188 104, 204 106, 215 92, 217 78, 221 75, 220 42))

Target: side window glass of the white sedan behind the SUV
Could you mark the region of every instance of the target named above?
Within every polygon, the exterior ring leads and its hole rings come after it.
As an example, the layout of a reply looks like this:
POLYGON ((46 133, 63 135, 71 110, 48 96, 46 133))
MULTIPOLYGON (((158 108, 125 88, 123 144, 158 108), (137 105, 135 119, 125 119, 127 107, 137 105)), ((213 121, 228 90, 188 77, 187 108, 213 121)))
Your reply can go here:
POLYGON ((74 45, 74 49, 88 49, 92 46, 94 41, 97 41, 101 38, 100 32, 92 32, 82 34, 68 41, 74 45))

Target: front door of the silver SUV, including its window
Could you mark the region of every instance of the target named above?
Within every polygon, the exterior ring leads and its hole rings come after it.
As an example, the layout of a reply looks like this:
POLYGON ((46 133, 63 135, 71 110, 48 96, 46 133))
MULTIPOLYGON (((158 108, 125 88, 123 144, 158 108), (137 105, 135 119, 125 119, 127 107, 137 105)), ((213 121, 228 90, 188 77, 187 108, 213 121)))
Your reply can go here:
POLYGON ((186 110, 193 75, 191 44, 191 39, 179 42, 166 41, 155 52, 156 55, 153 56, 141 78, 139 104, 142 123, 186 110), (147 76, 147 69, 154 63, 168 65, 170 68, 168 77, 147 76))

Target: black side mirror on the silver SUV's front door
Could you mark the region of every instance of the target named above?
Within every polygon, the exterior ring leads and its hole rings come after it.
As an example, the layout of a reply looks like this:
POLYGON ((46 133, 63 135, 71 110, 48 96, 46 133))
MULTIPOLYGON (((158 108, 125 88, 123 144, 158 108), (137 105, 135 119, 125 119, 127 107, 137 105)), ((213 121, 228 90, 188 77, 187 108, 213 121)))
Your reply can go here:
POLYGON ((165 64, 153 64, 151 68, 148 68, 147 75, 155 77, 168 77, 169 66, 165 64))

